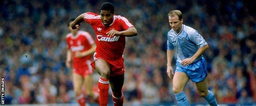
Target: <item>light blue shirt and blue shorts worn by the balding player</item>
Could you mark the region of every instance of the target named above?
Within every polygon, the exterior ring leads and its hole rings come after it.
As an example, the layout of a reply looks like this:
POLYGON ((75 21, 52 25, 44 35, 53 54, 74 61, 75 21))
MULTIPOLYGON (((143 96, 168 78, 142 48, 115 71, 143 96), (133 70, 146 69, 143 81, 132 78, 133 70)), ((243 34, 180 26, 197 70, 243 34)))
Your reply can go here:
POLYGON ((187 73, 192 82, 200 82, 207 76, 206 62, 203 56, 198 57, 192 64, 181 66, 183 59, 192 57, 199 47, 205 46, 207 43, 197 30, 186 25, 182 25, 180 33, 176 33, 173 29, 167 35, 167 49, 177 52, 176 70, 175 72, 187 73))

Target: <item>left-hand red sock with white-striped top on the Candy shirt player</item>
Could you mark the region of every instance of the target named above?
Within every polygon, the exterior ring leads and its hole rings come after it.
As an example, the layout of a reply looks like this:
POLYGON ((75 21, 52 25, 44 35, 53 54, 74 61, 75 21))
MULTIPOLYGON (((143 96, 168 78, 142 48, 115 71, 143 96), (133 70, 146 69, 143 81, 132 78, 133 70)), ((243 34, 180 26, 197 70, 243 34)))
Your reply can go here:
POLYGON ((100 106, 107 106, 109 79, 100 78, 98 82, 100 106))

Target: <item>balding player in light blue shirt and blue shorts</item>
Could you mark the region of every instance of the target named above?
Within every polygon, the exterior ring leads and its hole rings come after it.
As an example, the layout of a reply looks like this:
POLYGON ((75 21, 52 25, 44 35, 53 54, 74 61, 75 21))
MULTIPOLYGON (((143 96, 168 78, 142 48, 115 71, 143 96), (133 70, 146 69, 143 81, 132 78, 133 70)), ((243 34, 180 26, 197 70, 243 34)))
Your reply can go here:
POLYGON ((167 34, 167 75, 173 78, 173 91, 178 105, 189 106, 183 89, 191 79, 196 83, 199 95, 206 99, 210 106, 217 106, 214 94, 207 89, 206 62, 202 56, 209 47, 207 42, 198 31, 183 24, 181 11, 170 11, 168 18, 172 29, 167 34), (175 73, 171 67, 174 48, 177 52, 175 73))

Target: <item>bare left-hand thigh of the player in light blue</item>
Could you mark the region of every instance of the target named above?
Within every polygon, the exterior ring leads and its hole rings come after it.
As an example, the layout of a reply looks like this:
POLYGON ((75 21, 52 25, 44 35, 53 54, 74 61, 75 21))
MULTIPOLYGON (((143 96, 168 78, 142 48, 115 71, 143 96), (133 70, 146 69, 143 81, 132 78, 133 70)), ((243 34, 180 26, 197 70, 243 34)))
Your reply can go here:
POLYGON ((175 72, 172 80, 174 93, 176 94, 182 92, 188 80, 189 77, 187 76, 187 73, 175 72))

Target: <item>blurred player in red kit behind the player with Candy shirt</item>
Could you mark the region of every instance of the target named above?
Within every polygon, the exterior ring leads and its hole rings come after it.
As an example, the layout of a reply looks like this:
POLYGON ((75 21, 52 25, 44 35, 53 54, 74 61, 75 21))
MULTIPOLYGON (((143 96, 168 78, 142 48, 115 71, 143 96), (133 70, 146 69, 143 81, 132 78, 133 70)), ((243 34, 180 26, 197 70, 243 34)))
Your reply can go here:
POLYGON ((98 94, 93 92, 92 73, 93 69, 90 64, 92 62, 92 54, 95 52, 96 44, 88 32, 72 29, 71 22, 68 21, 68 29, 71 33, 66 35, 67 43, 67 59, 66 66, 73 68, 73 85, 76 98, 80 106, 85 106, 85 96, 82 93, 82 86, 85 84, 87 95, 92 99, 97 99, 98 94))

